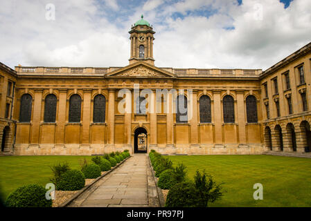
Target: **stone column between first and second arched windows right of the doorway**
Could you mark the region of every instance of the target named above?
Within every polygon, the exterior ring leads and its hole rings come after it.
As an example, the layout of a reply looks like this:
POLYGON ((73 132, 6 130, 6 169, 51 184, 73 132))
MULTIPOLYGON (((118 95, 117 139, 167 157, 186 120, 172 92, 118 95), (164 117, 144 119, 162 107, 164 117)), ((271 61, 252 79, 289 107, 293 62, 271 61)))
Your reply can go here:
MULTIPOLYGON (((189 97, 191 99, 191 97, 189 97)), ((188 117, 190 117, 190 131, 191 131, 191 146, 199 146, 199 135, 198 135, 198 126, 197 126, 197 90, 193 90, 192 102, 190 102, 192 110, 188 109, 188 117), (190 113, 190 115, 189 115, 190 113)))

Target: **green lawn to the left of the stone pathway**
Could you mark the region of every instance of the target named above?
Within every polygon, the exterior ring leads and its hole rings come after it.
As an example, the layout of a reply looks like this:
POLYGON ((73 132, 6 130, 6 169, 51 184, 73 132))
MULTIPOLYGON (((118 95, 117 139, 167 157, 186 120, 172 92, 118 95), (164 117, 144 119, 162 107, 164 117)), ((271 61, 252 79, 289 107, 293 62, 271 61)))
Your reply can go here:
POLYGON ((80 169, 80 160, 91 156, 5 156, 0 157, 0 192, 6 199, 10 192, 24 184, 45 186, 53 176, 50 166, 68 162, 71 169, 80 169))

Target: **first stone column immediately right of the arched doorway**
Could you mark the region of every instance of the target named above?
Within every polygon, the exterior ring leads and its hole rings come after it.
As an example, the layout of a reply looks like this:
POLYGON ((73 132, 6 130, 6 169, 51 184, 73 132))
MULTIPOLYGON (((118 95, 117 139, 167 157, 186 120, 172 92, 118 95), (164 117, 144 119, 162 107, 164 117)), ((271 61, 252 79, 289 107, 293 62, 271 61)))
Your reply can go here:
POLYGON ((150 97, 150 146, 157 146, 157 97, 156 91, 152 90, 150 97))

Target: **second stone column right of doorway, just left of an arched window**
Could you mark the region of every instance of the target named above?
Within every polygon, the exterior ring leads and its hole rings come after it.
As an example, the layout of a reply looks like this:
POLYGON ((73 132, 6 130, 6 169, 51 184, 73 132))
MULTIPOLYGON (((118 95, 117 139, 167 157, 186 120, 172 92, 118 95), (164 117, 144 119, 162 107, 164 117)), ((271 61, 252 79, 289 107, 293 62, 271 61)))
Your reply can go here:
POLYGON ((174 146, 174 114, 172 109, 172 93, 168 93, 166 97, 166 146, 174 146))

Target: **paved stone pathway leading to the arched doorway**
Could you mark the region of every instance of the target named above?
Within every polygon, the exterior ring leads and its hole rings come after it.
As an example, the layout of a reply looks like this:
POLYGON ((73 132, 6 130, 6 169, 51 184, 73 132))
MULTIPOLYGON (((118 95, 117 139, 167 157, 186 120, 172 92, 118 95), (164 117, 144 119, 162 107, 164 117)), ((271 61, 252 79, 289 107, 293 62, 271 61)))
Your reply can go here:
MULTIPOLYGON (((135 154, 116 170, 96 182, 96 188, 83 194, 69 206, 82 207, 146 207, 154 201, 150 193, 150 164, 146 154, 135 154), (148 191, 150 194, 148 194, 148 191), (150 197, 150 196, 149 196, 150 197)), ((152 185, 153 186, 153 185, 152 185)), ((151 186, 151 187, 152 187, 151 186)))

